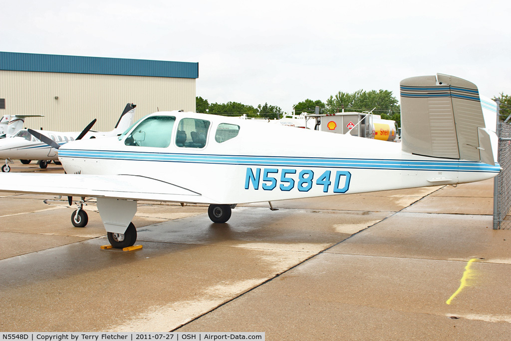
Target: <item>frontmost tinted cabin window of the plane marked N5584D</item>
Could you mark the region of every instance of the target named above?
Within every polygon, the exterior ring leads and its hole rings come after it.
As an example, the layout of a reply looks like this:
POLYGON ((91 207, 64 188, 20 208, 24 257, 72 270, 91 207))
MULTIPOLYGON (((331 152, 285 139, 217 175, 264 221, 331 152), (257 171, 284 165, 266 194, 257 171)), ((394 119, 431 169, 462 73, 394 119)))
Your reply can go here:
POLYGON ((148 117, 128 135, 126 146, 165 148, 170 145, 172 128, 176 118, 173 116, 148 117))

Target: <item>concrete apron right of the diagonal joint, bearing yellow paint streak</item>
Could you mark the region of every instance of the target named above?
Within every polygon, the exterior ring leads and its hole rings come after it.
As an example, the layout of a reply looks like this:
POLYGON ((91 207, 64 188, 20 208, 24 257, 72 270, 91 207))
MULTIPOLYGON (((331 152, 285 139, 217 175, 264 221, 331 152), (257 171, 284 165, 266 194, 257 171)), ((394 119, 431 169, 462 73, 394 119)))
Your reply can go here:
MULTIPOLYGON (((483 202, 491 185, 436 191, 176 331, 507 340, 511 231, 492 230, 489 215, 450 213, 453 198, 457 207, 472 195, 483 202)), ((478 212, 488 209, 481 204, 478 212)))

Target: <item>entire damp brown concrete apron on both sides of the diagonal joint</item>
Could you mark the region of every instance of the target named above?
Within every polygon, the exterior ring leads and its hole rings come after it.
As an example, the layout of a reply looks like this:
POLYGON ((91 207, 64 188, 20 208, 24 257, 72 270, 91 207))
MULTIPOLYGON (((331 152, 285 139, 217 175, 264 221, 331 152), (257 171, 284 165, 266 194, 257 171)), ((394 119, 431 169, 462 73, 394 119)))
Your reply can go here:
MULTIPOLYGON (((421 208, 429 197, 421 198, 437 189, 277 202, 275 212, 237 208, 228 224, 205 214, 153 221, 138 229, 144 248, 128 253, 100 251, 108 243, 103 237, 66 233, 89 229, 69 227, 70 209, 46 219, 30 213, 25 229, 49 220, 53 237, 83 239, 0 261, 9 274, 0 279, 0 330, 169 331, 196 319, 177 331, 507 339, 511 236, 490 231, 491 217, 421 208), (447 305, 472 258, 470 285, 447 305)), ((432 196, 456 197, 439 194, 432 196)), ((187 210, 147 209, 150 219, 187 210)), ((99 217, 89 217, 101 233, 99 217)), ((7 218, 0 217, 0 229, 14 235, 10 241, 42 236, 22 231, 22 220, 4 228, 7 218)), ((149 218, 137 219, 143 226, 149 218)), ((2 250, 9 239, 0 240, 2 250)))

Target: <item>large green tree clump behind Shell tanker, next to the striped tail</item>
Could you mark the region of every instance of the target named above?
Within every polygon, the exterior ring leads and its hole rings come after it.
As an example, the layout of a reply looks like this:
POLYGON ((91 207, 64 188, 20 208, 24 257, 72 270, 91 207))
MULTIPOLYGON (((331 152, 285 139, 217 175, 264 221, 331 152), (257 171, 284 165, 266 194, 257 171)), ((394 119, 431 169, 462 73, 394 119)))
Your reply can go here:
POLYGON ((335 96, 330 96, 327 100, 325 113, 350 111, 371 111, 376 115, 381 115, 382 119, 394 120, 401 125, 401 108, 396 97, 392 96, 389 90, 380 89, 379 91, 357 90, 354 93, 338 92, 335 96))

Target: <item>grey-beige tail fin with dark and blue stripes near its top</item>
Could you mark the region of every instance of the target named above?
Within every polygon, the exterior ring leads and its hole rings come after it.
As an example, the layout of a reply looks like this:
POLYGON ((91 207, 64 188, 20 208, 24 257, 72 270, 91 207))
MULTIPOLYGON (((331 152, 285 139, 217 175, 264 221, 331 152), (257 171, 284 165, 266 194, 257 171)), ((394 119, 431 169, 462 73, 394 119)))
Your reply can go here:
POLYGON ((404 79, 400 89, 404 151, 495 165, 496 135, 474 83, 437 74, 404 79))

